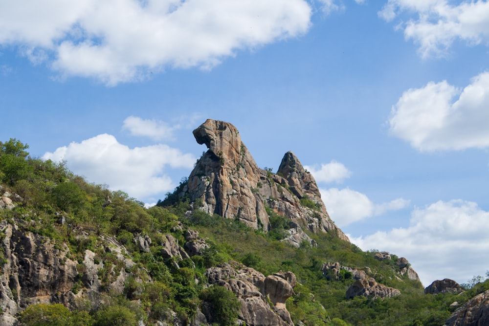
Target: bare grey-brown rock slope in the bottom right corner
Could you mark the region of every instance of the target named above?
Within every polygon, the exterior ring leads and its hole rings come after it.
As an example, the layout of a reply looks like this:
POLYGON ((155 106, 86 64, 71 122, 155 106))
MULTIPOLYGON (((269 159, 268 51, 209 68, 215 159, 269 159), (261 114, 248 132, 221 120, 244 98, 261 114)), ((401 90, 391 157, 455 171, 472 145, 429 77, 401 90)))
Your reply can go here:
POLYGON ((467 301, 445 323, 446 326, 489 325, 489 290, 467 301))

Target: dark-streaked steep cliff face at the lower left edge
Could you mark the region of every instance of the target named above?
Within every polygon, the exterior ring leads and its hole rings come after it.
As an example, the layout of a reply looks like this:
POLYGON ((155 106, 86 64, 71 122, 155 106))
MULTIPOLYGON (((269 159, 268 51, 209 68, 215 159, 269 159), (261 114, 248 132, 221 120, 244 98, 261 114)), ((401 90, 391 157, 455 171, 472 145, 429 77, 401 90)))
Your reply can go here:
MULTIPOLYGON (((76 299, 89 300, 96 306, 102 301, 101 290, 122 293, 129 276, 126 269, 134 263, 121 253, 125 248, 115 239, 105 239, 105 251, 111 252, 120 263, 112 265, 107 283, 102 284, 99 272, 104 262, 90 250, 83 261, 72 260, 66 244, 21 230, 16 224, 3 220, 0 229, 4 235, 1 246, 6 262, 0 270, 1 326, 11 326, 15 315, 29 304, 65 304, 76 308, 76 299), (76 283, 82 290, 75 290, 76 283), (85 299, 84 299, 85 298, 85 299)), ((83 241, 85 236, 79 238, 83 241)))

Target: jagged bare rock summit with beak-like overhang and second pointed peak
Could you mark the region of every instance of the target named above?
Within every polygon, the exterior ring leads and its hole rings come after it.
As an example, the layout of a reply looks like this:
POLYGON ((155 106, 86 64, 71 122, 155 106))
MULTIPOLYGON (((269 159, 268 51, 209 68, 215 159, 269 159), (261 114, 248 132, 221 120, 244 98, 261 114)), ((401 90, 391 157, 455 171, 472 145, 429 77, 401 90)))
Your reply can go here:
POLYGON ((260 169, 230 123, 208 119, 194 130, 195 139, 209 149, 197 162, 184 192, 202 199, 209 214, 238 218, 250 227, 267 231, 267 209, 288 217, 290 243, 312 242, 302 227, 312 232, 337 232, 321 200, 314 177, 293 152, 287 152, 276 174, 260 169))

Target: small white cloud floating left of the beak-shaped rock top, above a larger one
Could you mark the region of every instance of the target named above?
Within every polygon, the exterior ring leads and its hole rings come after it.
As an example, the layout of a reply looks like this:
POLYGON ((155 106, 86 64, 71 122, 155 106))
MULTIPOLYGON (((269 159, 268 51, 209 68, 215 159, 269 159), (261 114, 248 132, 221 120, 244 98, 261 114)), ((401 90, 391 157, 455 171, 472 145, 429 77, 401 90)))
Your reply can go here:
POLYGON ((127 117, 122 126, 122 129, 128 130, 133 136, 145 136, 153 140, 174 139, 174 131, 180 128, 180 125, 170 126, 161 120, 135 116, 127 117))

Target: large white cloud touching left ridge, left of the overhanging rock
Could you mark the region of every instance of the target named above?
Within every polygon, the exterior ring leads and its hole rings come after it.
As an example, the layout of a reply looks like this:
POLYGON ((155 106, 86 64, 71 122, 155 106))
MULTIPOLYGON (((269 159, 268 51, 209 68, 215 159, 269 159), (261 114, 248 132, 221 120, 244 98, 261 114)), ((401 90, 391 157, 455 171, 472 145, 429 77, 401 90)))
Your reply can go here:
POLYGON ((175 187, 164 174, 165 167, 192 169, 196 161, 194 155, 162 144, 131 149, 109 134, 72 142, 46 152, 43 159, 66 160, 70 171, 89 182, 109 184, 111 190, 122 190, 139 200, 175 187))

